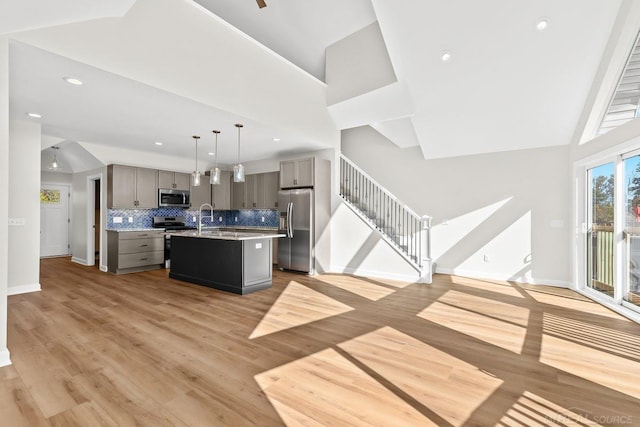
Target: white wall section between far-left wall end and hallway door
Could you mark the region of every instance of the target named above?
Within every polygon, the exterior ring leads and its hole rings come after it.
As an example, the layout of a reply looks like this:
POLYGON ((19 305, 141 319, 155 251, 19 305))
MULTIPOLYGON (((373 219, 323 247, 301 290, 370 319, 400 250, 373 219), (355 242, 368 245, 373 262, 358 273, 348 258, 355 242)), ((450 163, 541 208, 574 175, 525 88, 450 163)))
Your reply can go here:
POLYGON ((40 290, 40 123, 9 121, 9 295, 40 290))

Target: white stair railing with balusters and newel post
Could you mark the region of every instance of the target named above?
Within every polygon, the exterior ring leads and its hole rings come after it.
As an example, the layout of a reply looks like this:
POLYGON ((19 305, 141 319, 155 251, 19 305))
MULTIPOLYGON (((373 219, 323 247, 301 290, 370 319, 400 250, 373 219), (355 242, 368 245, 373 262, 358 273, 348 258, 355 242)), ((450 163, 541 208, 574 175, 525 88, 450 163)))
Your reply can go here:
POLYGON ((431 217, 419 216, 362 169, 340 156, 340 197, 431 283, 431 217))

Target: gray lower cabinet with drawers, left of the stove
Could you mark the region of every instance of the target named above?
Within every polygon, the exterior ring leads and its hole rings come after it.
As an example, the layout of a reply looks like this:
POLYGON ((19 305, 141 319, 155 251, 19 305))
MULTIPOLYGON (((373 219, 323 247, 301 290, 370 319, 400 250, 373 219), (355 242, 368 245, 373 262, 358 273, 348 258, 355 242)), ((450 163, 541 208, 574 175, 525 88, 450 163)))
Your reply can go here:
POLYGON ((155 270, 163 264, 162 230, 107 232, 107 267, 110 273, 155 270))

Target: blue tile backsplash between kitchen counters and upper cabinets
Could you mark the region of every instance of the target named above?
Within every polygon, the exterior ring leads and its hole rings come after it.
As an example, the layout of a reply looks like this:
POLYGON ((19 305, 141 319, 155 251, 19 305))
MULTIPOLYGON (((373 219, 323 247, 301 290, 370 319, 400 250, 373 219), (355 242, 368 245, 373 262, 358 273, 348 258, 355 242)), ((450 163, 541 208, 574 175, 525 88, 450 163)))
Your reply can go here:
MULTIPOLYGON (((151 228, 154 216, 184 216, 187 225, 198 224, 197 209, 157 208, 157 209, 109 209, 107 211, 107 229, 128 230, 151 228), (122 222, 114 222, 121 219, 122 222), (131 222, 129 222, 131 220, 131 222)), ((209 211, 202 214, 202 224, 219 227, 278 227, 278 211, 274 209, 243 209, 213 211, 213 220, 209 211)))

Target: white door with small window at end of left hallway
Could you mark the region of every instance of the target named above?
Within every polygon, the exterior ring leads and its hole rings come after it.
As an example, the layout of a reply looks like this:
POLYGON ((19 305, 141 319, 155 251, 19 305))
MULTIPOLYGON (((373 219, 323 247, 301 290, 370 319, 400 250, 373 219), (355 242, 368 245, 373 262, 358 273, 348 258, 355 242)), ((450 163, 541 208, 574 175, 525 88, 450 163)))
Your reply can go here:
POLYGON ((68 255, 69 193, 67 185, 45 185, 40 189, 40 256, 68 255))

